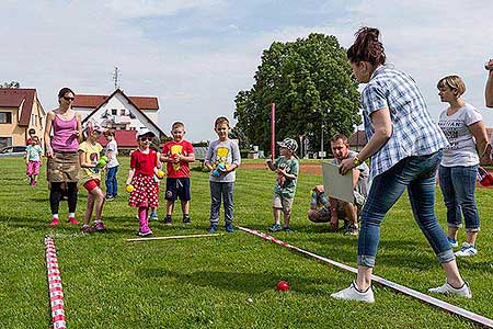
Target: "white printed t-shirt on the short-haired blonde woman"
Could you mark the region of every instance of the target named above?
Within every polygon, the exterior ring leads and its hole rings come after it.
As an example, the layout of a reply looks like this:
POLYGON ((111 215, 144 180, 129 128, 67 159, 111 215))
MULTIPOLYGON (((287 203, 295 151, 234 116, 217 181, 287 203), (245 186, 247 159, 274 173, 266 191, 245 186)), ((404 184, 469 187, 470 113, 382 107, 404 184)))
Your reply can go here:
POLYGON ((442 166, 456 167, 479 163, 475 140, 469 126, 482 120, 482 115, 471 104, 463 105, 452 115, 447 115, 447 110, 440 113, 438 126, 449 143, 449 146, 444 148, 442 166))

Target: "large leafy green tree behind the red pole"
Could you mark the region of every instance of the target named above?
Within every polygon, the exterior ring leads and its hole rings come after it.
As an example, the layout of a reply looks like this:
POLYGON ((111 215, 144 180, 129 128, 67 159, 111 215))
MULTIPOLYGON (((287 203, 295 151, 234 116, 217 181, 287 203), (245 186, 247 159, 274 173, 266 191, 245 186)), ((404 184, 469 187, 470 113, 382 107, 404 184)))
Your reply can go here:
MULTIPOLYGON (((307 136, 320 149, 320 136, 349 135, 360 123, 357 81, 335 36, 310 34, 296 42, 274 42, 250 90, 236 97, 234 117, 253 145, 268 149, 271 104, 276 104, 276 139, 307 136)), ((324 149, 326 143, 324 143, 324 149)))

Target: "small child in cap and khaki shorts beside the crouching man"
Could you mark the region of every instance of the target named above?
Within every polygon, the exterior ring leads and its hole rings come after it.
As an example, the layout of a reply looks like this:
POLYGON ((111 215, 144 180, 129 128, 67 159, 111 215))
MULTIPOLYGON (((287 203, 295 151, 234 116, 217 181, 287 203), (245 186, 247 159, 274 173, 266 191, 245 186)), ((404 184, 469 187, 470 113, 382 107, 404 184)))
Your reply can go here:
POLYGON ((272 159, 265 160, 268 169, 277 173, 274 186, 274 224, 268 227, 268 230, 290 232, 293 229, 289 226, 289 220, 299 172, 299 163, 296 157, 298 144, 293 138, 285 138, 283 141, 277 141, 277 145, 280 147, 280 157, 274 162, 272 159), (280 212, 284 213, 284 227, 280 226, 280 212))

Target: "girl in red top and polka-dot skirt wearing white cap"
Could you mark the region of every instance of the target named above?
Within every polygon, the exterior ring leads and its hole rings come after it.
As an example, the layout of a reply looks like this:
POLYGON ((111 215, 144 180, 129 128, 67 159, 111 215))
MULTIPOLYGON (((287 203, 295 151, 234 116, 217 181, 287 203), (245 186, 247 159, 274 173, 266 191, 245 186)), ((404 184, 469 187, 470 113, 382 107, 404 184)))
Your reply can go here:
MULTIPOLYGON (((152 234, 149 228, 149 207, 157 207, 159 203, 158 189, 153 181, 156 168, 161 168, 159 152, 149 148, 156 135, 148 128, 137 132, 136 138, 139 148, 131 152, 130 170, 126 181, 127 186, 133 185, 128 205, 138 208, 140 223, 139 236, 152 234)), ((128 190, 127 190, 128 191, 128 190)))

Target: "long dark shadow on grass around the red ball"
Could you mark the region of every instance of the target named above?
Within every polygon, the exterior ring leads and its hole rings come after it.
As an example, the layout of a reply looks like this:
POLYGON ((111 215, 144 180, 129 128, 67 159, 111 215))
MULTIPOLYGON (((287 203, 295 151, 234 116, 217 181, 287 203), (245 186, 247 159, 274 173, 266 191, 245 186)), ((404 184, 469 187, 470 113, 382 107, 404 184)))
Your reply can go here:
POLYGON ((140 269, 136 273, 146 279, 151 277, 174 277, 177 282, 187 283, 194 286, 215 287, 227 291, 242 293, 262 293, 275 288, 279 280, 289 282, 293 292, 320 295, 326 294, 320 290, 320 285, 328 282, 320 281, 320 277, 311 279, 299 275, 279 274, 273 272, 245 273, 245 272, 223 272, 223 271, 198 271, 194 273, 173 272, 162 268, 140 269))

